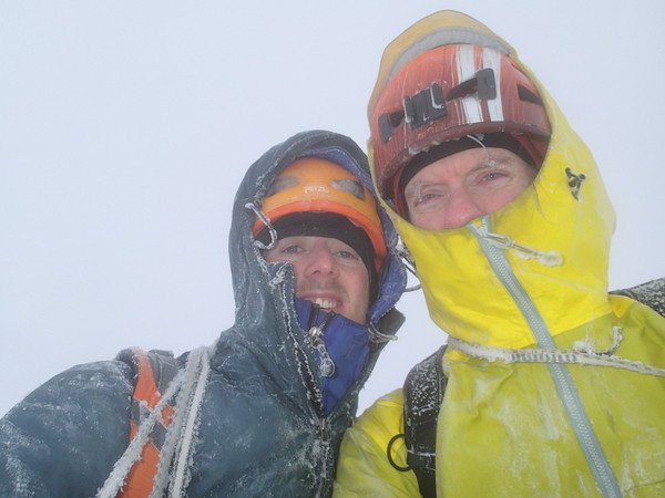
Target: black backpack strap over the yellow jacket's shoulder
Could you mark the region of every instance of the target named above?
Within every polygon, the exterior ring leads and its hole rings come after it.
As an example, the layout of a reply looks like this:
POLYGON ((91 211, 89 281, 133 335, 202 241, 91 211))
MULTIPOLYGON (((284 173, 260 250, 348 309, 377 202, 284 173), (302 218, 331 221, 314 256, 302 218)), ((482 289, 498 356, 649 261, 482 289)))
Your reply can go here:
POLYGON ((444 352, 442 346, 411 369, 403 385, 407 464, 423 497, 437 496, 437 419, 448 383, 441 363, 444 352))

